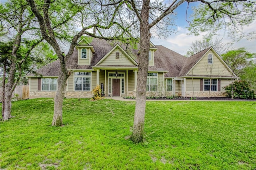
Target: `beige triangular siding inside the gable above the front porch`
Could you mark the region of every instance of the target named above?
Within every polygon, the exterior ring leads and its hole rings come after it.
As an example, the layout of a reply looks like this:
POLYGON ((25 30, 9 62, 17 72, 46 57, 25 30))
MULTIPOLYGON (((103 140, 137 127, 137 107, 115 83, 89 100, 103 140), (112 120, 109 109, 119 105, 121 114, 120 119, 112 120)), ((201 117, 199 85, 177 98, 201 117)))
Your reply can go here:
POLYGON ((135 64, 120 49, 115 49, 99 65, 134 66, 135 64), (116 59, 116 52, 119 52, 119 59, 116 59))

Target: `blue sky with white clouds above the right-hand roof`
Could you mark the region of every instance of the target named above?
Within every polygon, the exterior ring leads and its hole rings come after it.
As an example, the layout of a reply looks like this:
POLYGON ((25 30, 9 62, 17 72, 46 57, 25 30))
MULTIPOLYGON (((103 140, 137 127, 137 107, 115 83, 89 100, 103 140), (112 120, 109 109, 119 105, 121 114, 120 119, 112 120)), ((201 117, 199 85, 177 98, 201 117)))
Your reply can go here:
MULTIPOLYGON (((193 3, 192 3, 193 5, 193 3)), ((196 4, 194 4, 195 6, 196 4)), ((151 39, 151 42, 154 45, 163 45, 164 47, 167 47, 168 49, 171 49, 172 51, 175 51, 177 53, 180 53, 181 55, 184 55, 186 51, 190 48, 192 45, 192 42, 195 42, 196 40, 202 40, 203 34, 200 34, 198 36, 194 35, 188 35, 189 31, 186 27, 189 26, 188 22, 186 21, 186 8, 187 3, 183 3, 181 6, 179 6, 175 12, 177 13, 176 16, 176 31, 177 33, 172 33, 172 35, 169 35, 167 38, 159 38, 155 37, 151 39)), ((190 8, 191 9, 191 6, 190 8)), ((192 10, 188 11, 188 15, 190 16, 192 14, 192 10)), ((256 17, 256 16, 255 16, 256 17)), ((188 17, 187 17, 188 18, 188 17)), ((192 19, 190 19, 191 21, 192 19)), ((245 33, 256 31, 256 21, 254 21, 249 26, 244 26, 243 31, 245 33)), ((224 31, 220 31, 218 36, 214 36, 213 40, 216 38, 222 39, 222 42, 224 44, 230 43, 233 40, 230 37, 227 37, 226 33, 224 31)), ((247 40, 245 38, 241 39, 238 42, 234 42, 231 48, 238 49, 241 47, 245 47, 249 52, 256 53, 256 40, 247 40)))

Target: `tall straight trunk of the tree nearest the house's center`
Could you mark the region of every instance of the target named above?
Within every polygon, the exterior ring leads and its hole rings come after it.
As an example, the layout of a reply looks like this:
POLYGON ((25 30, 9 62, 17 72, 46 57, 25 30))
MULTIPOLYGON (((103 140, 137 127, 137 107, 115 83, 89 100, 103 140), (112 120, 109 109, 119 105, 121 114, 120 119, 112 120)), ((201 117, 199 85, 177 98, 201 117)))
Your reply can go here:
POLYGON ((134 125, 131 140, 135 143, 143 142, 144 119, 146 109, 146 82, 148 76, 148 53, 150 46, 150 28, 148 23, 149 1, 143 1, 140 14, 140 56, 138 57, 138 82, 136 92, 136 106, 134 113, 134 125))

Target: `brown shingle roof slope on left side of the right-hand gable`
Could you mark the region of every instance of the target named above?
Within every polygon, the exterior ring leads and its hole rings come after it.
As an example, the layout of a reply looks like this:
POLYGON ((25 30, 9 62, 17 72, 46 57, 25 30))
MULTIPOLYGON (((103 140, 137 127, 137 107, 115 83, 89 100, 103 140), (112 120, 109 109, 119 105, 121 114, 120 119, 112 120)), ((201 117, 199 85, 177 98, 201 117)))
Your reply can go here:
POLYGON ((201 57, 203 57, 203 55, 210 49, 211 47, 209 47, 208 49, 205 49, 203 51, 200 51, 199 53, 196 53, 188 58, 186 58, 186 60, 184 61, 183 67, 180 71, 180 74, 178 76, 185 76, 188 71, 198 62, 198 60, 201 59, 201 57))

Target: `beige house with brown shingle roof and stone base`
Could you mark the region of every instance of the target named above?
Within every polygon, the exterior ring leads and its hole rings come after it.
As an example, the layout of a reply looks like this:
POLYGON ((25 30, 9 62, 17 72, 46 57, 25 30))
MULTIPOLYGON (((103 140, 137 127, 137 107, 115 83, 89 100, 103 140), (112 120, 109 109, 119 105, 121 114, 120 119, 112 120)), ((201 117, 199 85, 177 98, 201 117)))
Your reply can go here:
MULTIPOLYGON (((83 37, 67 61, 71 75, 66 97, 92 97, 101 85, 105 96, 136 96, 140 46, 83 37)), ((147 96, 223 97, 224 86, 238 78, 210 47, 184 57, 150 43, 147 96)), ((59 61, 28 74, 31 97, 55 96, 59 61)))

